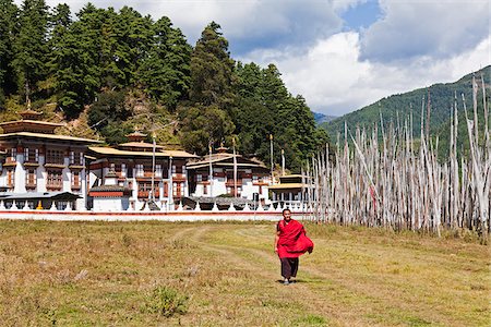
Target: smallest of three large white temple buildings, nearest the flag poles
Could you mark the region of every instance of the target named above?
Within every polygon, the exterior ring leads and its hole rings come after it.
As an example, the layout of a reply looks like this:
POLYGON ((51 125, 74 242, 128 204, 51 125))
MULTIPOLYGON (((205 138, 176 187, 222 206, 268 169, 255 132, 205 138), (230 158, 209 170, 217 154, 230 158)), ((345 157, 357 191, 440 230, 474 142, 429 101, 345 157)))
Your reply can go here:
POLYGON ((241 155, 218 153, 204 156, 187 165, 192 196, 235 196, 247 199, 268 201, 270 170, 263 162, 251 160, 241 155), (237 178, 235 179, 235 169, 237 178), (212 173, 211 173, 212 171, 212 173))

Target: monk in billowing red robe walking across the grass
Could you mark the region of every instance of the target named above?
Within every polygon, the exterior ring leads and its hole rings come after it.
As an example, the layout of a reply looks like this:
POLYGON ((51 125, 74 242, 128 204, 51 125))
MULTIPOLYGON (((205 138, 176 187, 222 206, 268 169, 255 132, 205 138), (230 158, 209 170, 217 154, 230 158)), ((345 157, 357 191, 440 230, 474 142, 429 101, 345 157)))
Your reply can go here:
POLYGON ((291 219, 289 209, 283 210, 283 220, 276 225, 275 252, 282 263, 283 283, 289 284, 297 277, 298 257, 306 252, 312 253, 313 242, 306 235, 303 225, 291 219))

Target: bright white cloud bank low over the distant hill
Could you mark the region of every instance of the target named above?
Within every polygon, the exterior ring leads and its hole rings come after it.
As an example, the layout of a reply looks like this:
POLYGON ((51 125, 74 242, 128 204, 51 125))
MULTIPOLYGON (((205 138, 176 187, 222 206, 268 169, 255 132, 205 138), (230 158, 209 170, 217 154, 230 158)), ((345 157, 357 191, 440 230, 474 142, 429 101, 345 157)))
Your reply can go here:
POLYGON ((351 32, 320 40, 304 53, 256 51, 244 61, 263 66, 275 63, 288 89, 301 94, 312 110, 342 116, 393 94, 455 82, 488 65, 490 53, 490 40, 484 39, 468 51, 441 60, 420 57, 404 64, 362 61, 359 35, 351 32))

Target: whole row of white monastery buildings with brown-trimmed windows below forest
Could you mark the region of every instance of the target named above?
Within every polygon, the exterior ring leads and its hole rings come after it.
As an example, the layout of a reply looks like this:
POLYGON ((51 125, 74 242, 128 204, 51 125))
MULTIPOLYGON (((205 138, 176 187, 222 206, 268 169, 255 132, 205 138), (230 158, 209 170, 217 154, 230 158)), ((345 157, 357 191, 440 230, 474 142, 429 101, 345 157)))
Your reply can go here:
POLYGON ((175 210, 183 203, 196 208, 200 201, 216 207, 217 199, 266 206, 304 198, 301 175, 273 185, 263 162, 223 146, 197 157, 146 143, 147 135, 135 131, 127 143, 108 147, 56 134, 62 124, 41 121, 40 112, 20 114, 0 123, 0 208, 175 210))

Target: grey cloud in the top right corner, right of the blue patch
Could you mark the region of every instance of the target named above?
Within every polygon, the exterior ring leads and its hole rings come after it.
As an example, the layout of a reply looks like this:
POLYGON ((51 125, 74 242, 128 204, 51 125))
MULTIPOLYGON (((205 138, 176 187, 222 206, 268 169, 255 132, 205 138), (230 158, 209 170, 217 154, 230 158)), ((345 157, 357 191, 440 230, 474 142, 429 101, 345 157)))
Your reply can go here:
POLYGON ((451 58, 490 34, 489 0, 380 0, 380 4, 383 19, 362 32, 361 55, 372 61, 451 58))

